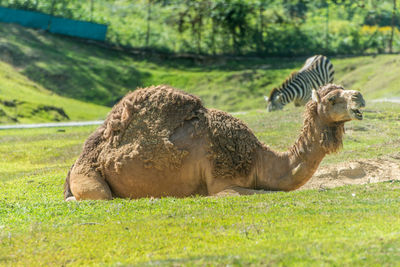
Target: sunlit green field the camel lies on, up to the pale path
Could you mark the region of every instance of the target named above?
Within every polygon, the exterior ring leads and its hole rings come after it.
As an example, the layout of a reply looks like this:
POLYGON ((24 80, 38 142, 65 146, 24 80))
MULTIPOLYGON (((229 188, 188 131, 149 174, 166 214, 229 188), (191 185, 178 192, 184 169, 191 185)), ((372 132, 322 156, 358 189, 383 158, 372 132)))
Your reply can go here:
MULTIPOLYGON (((367 103, 323 164, 399 151, 400 105, 367 103)), ((278 150, 299 109, 238 115, 278 150)), ((0 265, 396 266, 400 183, 268 195, 63 202, 90 127, 0 131, 0 265)))

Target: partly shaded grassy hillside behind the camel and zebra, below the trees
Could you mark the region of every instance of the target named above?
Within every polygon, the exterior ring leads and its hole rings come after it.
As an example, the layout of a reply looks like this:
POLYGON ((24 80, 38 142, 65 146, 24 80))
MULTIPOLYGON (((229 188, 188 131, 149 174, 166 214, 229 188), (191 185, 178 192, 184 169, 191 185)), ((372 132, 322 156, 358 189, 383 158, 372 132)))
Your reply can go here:
MULTIPOLYGON (((305 60, 210 58, 196 63, 157 55, 133 56, 15 25, 1 26, 0 60, 20 75, 58 95, 108 106, 138 86, 165 83, 199 95, 208 107, 264 109, 263 95, 305 60)), ((332 61, 336 81, 360 89, 367 101, 400 96, 400 55, 332 61)))

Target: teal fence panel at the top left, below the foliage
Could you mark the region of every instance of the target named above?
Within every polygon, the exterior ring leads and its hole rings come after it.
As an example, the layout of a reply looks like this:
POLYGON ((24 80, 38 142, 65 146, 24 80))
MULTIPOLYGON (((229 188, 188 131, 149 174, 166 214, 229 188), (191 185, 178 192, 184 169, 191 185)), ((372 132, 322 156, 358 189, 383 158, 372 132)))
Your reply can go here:
POLYGON ((0 21, 25 27, 48 30, 51 33, 104 41, 107 25, 55 17, 40 12, 0 7, 0 21))

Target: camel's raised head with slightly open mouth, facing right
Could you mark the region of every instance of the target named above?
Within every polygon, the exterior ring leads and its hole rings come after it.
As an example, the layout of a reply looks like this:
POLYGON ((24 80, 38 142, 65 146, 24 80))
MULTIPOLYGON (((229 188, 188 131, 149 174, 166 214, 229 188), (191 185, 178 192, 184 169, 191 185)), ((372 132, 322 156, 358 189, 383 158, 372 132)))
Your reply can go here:
POLYGON ((327 124, 363 119, 361 109, 365 100, 358 91, 327 84, 318 92, 313 90, 312 98, 317 102, 319 117, 327 124))

